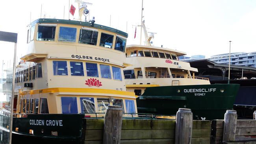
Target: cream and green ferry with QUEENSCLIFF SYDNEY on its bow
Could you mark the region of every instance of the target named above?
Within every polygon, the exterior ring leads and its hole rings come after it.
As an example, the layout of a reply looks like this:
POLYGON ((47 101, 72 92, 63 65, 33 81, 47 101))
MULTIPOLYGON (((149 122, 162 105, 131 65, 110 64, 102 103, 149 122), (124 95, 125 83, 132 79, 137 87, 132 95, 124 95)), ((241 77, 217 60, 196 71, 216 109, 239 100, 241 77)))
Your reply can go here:
POLYGON ((239 85, 210 85, 208 78, 196 77, 197 68, 179 61, 185 52, 151 46, 144 21, 145 45, 128 45, 124 68, 126 89, 135 92, 139 113, 176 114, 189 108, 195 120, 223 119, 232 109, 239 85))

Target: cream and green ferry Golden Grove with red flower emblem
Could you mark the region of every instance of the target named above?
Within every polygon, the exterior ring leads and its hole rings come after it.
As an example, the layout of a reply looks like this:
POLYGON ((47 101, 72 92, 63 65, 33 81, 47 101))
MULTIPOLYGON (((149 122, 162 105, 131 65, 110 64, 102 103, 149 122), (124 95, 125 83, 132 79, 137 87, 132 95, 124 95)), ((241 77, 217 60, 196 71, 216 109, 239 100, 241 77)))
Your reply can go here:
POLYGON ((13 141, 80 143, 83 118, 102 117, 109 105, 137 113, 135 94, 124 82, 127 36, 94 22, 32 22, 28 52, 15 73, 13 141))

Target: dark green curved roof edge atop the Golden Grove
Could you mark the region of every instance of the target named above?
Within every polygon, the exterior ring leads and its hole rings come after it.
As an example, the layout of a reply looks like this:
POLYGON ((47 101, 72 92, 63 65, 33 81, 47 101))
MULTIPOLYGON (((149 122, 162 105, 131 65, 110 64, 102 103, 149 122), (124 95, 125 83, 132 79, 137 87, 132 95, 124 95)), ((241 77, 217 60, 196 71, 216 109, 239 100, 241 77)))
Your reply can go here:
POLYGON ((80 21, 76 21, 76 20, 63 20, 63 19, 52 19, 52 18, 39 18, 35 21, 33 21, 31 24, 34 25, 36 23, 57 23, 57 24, 73 24, 73 25, 80 25, 80 26, 90 26, 90 27, 94 27, 94 28, 98 28, 98 29, 102 29, 102 30, 107 30, 107 31, 111 31, 114 33, 117 33, 119 35, 122 35, 124 37, 128 37, 128 33, 125 33, 123 31, 114 29, 114 28, 110 28, 108 26, 102 26, 100 24, 91 24, 90 22, 80 22, 80 21))

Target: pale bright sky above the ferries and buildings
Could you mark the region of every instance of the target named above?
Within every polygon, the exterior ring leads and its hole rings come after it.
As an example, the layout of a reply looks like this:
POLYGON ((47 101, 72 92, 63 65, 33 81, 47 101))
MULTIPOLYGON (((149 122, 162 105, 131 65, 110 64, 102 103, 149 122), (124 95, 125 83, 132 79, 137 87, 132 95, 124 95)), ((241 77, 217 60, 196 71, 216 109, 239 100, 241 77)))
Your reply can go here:
MULTIPOLYGON (((85 2, 93 3, 88 9, 96 24, 127 32, 127 44, 139 44, 141 0, 85 2)), ((78 18, 78 4, 70 0, 71 4, 76 7, 75 17, 70 15, 73 20, 78 18)), ((18 33, 18 57, 26 54, 30 22, 40 17, 69 18, 69 0, 1 0, 0 5, 0 31, 18 33)), ((154 46, 206 58, 228 53, 229 41, 231 52, 256 51, 256 0, 144 0, 143 8, 147 31, 157 33, 154 46)))

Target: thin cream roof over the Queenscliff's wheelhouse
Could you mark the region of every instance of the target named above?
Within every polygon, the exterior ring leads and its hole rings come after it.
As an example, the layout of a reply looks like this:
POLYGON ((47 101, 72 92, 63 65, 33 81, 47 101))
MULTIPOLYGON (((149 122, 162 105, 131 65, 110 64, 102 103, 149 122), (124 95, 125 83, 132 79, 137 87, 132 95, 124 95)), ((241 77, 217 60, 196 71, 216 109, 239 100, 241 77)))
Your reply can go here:
POLYGON ((147 49, 156 49, 156 50, 165 50, 165 51, 169 51, 169 52, 174 52, 176 53, 177 56, 181 56, 181 55, 186 55, 186 52, 182 52, 182 51, 178 51, 178 50, 173 50, 170 48, 162 48, 162 47, 157 47, 157 46, 144 46, 144 45, 137 45, 137 44, 132 44, 132 45, 127 45, 126 46, 126 50, 129 48, 147 48, 147 49))

